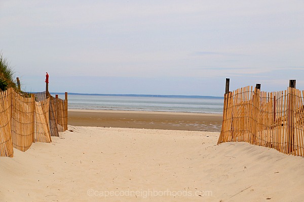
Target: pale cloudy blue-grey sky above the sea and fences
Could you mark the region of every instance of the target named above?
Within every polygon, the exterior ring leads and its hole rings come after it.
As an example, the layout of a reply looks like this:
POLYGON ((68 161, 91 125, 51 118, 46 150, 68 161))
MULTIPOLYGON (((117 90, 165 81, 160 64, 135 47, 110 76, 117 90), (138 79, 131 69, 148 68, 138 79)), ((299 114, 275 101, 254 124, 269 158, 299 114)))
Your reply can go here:
POLYGON ((304 1, 0 0, 0 52, 24 91, 304 90, 304 1))

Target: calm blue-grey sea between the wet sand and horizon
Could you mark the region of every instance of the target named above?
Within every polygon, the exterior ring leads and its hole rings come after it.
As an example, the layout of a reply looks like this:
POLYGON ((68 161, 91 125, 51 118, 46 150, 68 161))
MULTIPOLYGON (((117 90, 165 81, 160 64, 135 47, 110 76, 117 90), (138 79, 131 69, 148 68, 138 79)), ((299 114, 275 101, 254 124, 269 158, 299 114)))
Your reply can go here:
MULTIPOLYGON (((64 95, 59 94, 59 97, 64 98, 64 95)), ((223 98, 209 96, 96 95, 69 93, 68 108, 222 114, 223 98)))

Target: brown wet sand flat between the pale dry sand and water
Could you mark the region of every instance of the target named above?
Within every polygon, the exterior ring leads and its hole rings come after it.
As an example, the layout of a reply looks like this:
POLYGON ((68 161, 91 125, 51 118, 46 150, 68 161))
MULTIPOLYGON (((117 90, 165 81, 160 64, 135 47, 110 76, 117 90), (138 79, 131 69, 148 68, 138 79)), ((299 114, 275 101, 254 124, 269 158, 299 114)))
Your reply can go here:
POLYGON ((220 132, 221 114, 68 110, 68 124, 116 128, 145 128, 220 132))

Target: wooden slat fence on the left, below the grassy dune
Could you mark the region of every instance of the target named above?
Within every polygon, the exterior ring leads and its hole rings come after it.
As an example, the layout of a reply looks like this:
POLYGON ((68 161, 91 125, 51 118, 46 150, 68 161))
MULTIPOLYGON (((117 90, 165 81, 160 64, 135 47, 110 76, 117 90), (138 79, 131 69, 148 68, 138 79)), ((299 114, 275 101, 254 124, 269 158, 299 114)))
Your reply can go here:
POLYGON ((23 97, 13 88, 0 92, 0 153, 13 157, 13 147, 25 151, 33 142, 51 142, 67 130, 65 100, 46 92, 23 97))

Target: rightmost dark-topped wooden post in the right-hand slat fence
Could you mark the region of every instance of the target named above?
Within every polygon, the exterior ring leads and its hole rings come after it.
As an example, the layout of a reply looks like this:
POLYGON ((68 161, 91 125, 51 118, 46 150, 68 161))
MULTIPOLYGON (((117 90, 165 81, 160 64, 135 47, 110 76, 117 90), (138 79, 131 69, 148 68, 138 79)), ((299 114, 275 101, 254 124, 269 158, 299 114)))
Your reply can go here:
POLYGON ((287 151, 292 153, 294 150, 294 89, 295 89, 295 80, 289 80, 289 93, 288 93, 288 144, 287 151))

